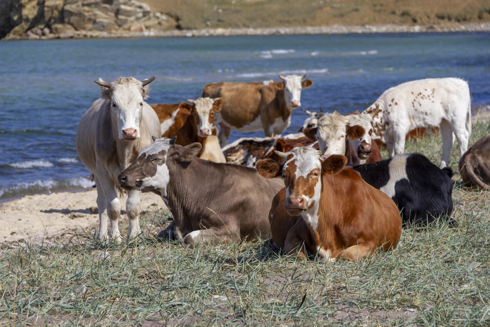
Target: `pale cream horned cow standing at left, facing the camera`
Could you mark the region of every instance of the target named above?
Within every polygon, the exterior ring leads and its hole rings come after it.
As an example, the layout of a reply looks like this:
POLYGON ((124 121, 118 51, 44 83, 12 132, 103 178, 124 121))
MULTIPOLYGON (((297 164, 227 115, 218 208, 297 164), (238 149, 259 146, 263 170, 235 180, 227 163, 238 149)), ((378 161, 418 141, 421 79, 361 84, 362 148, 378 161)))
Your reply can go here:
MULTIPOLYGON (((155 77, 140 81, 119 77, 114 82, 102 79, 102 96, 83 115, 76 132, 76 151, 83 164, 94 174, 99 213, 98 239, 109 236, 121 241, 118 220, 121 202, 118 175, 136 159, 138 152, 161 135, 158 116, 144 101, 148 84, 155 77)), ((130 191, 126 201, 129 218, 128 239, 136 237, 139 227, 140 192, 130 191)))

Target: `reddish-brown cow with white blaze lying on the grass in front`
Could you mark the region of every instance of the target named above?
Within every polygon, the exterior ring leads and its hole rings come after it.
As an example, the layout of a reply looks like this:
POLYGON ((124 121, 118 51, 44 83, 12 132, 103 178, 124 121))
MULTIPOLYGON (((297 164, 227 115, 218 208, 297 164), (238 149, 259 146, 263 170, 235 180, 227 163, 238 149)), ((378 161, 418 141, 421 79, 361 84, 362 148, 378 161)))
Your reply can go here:
POLYGON ((284 164, 257 161, 260 174, 282 175, 286 186, 270 208, 272 241, 286 253, 329 261, 359 260, 396 247, 401 217, 392 199, 345 167, 344 156, 322 154, 302 147, 283 153, 284 164))

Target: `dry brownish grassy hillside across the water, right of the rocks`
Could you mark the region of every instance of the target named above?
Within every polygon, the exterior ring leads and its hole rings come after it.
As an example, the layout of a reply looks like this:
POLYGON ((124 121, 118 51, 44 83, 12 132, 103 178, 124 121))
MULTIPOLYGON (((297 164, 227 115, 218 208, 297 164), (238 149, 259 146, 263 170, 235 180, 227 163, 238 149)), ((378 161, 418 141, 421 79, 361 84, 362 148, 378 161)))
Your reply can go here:
POLYGON ((180 27, 456 25, 490 21, 488 0, 145 0, 180 27))

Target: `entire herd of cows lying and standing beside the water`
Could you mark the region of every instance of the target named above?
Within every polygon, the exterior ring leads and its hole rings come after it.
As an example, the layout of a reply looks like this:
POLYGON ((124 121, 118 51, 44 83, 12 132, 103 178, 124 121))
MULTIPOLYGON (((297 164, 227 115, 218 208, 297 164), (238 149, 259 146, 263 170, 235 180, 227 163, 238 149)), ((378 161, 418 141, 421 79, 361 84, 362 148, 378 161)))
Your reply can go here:
POLYGON ((350 115, 307 112, 299 133, 281 137, 301 106, 301 90, 313 82, 306 74, 279 77, 210 83, 198 99, 152 105, 145 99, 155 77, 96 81, 101 98, 80 121, 76 150, 97 187, 98 239, 121 241, 122 189, 127 237, 136 237, 140 192, 151 191, 173 215, 159 237, 184 246, 260 237, 300 257, 358 260, 393 249, 402 225, 441 219, 457 226, 446 167, 454 138, 463 181, 490 188, 490 136, 467 151, 465 81, 403 83, 350 115), (443 140, 441 168, 422 154, 403 153, 410 131, 435 127, 443 140), (265 137, 226 144, 231 129, 263 129, 265 137), (386 144, 389 159, 378 144, 386 144))

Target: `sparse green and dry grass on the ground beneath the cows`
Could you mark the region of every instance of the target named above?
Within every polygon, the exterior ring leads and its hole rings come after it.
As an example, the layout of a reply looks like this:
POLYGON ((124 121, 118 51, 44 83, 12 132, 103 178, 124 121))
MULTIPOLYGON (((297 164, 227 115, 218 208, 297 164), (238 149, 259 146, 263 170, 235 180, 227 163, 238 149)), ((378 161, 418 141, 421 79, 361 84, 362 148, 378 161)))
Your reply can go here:
MULTIPOLYGON (((489 130, 474 124, 470 144, 489 130)), ((439 163, 440 135, 406 151, 439 163)), ((161 243, 163 210, 143 215, 133 243, 101 247, 87 231, 5 249, 0 326, 489 326, 489 193, 453 179, 458 228, 404 228, 392 252, 357 263, 278 256, 267 240, 161 243)))

